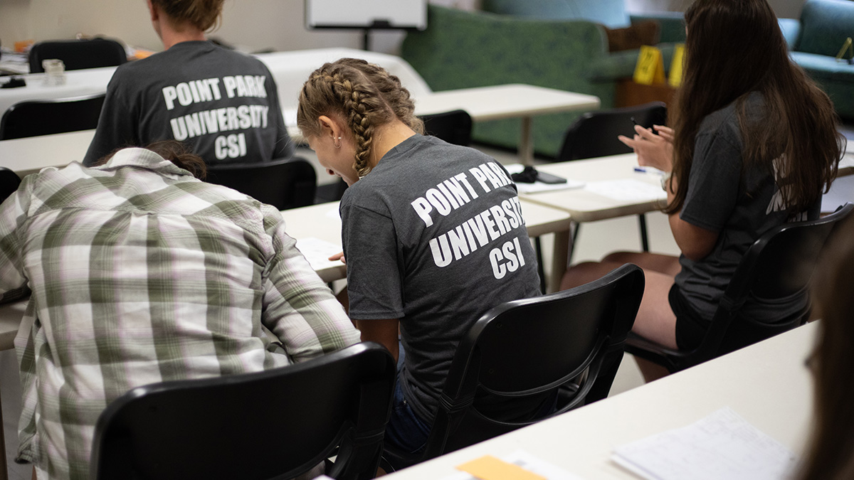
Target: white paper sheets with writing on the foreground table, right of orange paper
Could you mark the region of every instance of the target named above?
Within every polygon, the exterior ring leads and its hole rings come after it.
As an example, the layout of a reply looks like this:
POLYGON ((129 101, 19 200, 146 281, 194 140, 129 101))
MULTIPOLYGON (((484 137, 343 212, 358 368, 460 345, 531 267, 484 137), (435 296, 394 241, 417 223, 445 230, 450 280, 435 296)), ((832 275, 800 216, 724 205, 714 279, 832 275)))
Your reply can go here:
POLYGON ((727 407, 687 427, 617 447, 611 460, 654 480, 780 480, 797 459, 727 407))

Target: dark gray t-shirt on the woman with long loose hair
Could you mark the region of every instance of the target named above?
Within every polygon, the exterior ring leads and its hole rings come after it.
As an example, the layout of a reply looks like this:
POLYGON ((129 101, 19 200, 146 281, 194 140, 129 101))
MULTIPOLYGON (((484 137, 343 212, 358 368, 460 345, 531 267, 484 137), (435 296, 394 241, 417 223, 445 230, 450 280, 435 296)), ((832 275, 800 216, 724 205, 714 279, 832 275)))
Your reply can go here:
MULTIPOLYGON (((748 121, 762 121, 762 96, 754 92, 744 101, 748 121)), ((787 221, 816 219, 821 208, 821 202, 816 202, 809 212, 790 218, 781 204, 773 170, 742 158, 736 103, 710 114, 700 124, 687 196, 679 215, 691 225, 719 232, 715 248, 702 260, 681 255, 682 269, 676 275, 681 294, 707 321, 711 321, 741 257, 763 233, 787 221)), ((797 296, 769 305, 753 299, 743 312, 755 319, 781 318, 797 311, 804 301, 804 296, 797 296)))

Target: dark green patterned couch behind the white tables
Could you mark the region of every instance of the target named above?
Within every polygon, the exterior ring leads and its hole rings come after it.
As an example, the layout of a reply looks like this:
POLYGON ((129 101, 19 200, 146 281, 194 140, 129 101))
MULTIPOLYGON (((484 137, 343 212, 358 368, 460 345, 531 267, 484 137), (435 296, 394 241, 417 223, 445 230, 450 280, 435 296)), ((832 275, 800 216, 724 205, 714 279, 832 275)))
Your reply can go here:
MULTIPOLYGON (((631 77, 637 61, 638 50, 609 53, 605 26, 592 20, 543 20, 429 5, 427 25, 423 32, 407 33, 401 56, 434 91, 524 83, 595 95, 602 108, 611 108, 617 79, 631 77)), ((670 67, 673 44, 661 46, 664 66, 670 67)), ((536 153, 556 155, 579 114, 536 116, 536 153)), ((520 120, 477 122, 472 138, 515 149, 519 132, 520 120)))

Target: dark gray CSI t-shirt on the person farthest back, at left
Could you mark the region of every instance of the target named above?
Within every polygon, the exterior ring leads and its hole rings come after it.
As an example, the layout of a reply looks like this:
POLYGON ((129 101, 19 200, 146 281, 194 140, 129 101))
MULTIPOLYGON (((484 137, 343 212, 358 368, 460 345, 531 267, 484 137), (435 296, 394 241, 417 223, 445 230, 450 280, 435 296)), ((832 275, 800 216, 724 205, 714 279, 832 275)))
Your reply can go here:
POLYGON ((204 41, 175 44, 116 69, 83 163, 167 139, 187 143, 208 165, 294 153, 264 63, 204 41))

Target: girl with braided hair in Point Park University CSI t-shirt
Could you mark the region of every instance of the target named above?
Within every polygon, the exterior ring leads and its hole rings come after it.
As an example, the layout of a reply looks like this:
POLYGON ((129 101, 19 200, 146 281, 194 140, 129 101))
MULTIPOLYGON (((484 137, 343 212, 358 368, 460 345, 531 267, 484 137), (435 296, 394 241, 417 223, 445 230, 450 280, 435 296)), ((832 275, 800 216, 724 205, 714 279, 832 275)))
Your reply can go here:
POLYGON ((363 341, 403 357, 386 442, 409 452, 426 442, 459 339, 489 308, 539 295, 516 185, 488 155, 422 135, 414 109, 397 77, 347 58, 310 75, 297 109, 320 164, 349 185, 349 315, 363 341))

